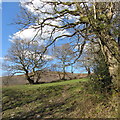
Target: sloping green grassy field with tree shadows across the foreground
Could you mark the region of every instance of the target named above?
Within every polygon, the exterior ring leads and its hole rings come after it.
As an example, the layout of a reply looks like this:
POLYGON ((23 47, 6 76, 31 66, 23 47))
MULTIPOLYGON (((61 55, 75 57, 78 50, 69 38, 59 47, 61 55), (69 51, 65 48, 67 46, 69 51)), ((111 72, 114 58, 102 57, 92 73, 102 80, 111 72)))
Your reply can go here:
POLYGON ((87 78, 3 87, 3 120, 117 118, 117 93, 92 90, 87 78))

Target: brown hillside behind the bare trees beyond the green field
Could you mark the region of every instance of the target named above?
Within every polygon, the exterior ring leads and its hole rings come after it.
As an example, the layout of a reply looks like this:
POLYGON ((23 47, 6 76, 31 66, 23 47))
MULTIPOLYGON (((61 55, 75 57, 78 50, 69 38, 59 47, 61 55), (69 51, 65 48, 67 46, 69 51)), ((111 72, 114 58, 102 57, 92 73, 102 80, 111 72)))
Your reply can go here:
MULTIPOLYGON (((60 77, 62 77, 63 73, 62 72, 56 72, 56 71, 46 71, 42 73, 41 79, 39 80, 41 83, 49 83, 49 82, 54 82, 54 81, 59 81, 60 77)), ((86 77, 87 74, 78 74, 78 73, 67 73, 66 79, 79 79, 82 77, 86 77)), ((28 81, 26 80, 24 75, 15 75, 13 77, 10 76, 4 76, 2 77, 2 84, 3 85, 25 85, 28 84, 28 81)))

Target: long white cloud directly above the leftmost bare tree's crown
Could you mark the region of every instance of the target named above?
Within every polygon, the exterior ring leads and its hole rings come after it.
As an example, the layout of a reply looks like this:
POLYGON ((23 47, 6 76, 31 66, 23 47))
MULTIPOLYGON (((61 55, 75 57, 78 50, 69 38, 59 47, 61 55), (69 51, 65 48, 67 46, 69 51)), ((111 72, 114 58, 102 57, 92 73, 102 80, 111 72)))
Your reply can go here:
MULTIPOLYGON (((51 32, 53 31, 54 27, 51 26, 44 26, 42 30, 42 35, 40 35, 41 30, 34 29, 33 26, 30 26, 28 29, 25 29, 23 31, 16 32, 12 36, 9 36, 9 41, 14 42, 16 40, 24 40, 26 42, 31 41, 34 39, 34 41, 38 41, 39 45, 45 44, 49 42, 51 32)), ((67 30, 58 30, 55 33, 52 34, 52 38, 55 39, 57 36, 61 35, 69 35, 70 33, 67 30)))

